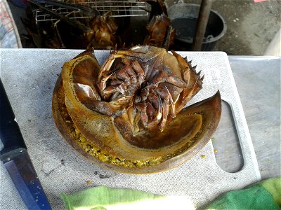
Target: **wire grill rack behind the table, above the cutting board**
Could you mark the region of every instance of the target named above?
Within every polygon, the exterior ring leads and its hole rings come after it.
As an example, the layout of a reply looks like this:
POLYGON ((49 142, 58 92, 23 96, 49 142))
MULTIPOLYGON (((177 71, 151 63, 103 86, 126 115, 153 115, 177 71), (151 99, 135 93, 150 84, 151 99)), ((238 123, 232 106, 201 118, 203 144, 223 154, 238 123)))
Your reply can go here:
MULTIPOLYGON (((72 3, 81 4, 83 6, 89 6, 90 8, 95 8, 102 15, 107 13, 110 17, 139 17, 148 16, 148 4, 144 1, 129 0, 129 1, 111 1, 111 0, 86 0, 82 2, 81 0, 74 0, 72 3)), ((78 10, 69 10, 67 8, 53 6, 51 4, 45 3, 45 7, 53 10, 60 15, 64 15, 70 19, 89 19, 92 18, 89 15, 84 15, 78 10)), ((40 9, 33 10, 36 22, 44 21, 55 21, 57 18, 53 18, 51 15, 44 13, 40 9)))

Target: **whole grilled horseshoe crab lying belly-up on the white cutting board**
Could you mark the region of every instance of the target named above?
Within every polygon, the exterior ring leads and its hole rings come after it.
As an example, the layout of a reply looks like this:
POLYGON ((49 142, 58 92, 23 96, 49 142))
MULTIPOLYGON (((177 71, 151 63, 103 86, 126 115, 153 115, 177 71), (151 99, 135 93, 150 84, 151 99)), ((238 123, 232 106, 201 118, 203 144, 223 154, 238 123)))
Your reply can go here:
POLYGON ((110 54, 91 50, 66 62, 53 93, 63 137, 86 158, 117 172, 160 172, 207 144, 221 116, 221 97, 185 108, 202 88, 200 73, 172 51, 149 45, 110 54))

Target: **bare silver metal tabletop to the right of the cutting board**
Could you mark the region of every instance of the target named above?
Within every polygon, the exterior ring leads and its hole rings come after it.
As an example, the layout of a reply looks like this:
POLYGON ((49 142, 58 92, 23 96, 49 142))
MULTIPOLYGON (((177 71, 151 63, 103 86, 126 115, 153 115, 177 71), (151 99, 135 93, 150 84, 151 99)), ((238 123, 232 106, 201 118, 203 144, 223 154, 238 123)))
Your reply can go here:
POLYGON ((270 56, 228 58, 254 144, 261 179, 281 176, 281 58, 270 56))

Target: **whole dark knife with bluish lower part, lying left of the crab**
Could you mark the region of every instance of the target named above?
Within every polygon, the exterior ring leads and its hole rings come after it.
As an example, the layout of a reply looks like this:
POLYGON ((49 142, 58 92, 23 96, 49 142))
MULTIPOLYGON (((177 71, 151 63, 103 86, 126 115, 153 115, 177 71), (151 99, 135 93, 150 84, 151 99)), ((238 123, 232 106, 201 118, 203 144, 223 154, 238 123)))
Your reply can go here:
POLYGON ((27 209, 51 209, 30 155, 27 153, 25 141, 15 121, 15 115, 1 79, 0 139, 4 145, 0 151, 0 160, 4 163, 27 209))

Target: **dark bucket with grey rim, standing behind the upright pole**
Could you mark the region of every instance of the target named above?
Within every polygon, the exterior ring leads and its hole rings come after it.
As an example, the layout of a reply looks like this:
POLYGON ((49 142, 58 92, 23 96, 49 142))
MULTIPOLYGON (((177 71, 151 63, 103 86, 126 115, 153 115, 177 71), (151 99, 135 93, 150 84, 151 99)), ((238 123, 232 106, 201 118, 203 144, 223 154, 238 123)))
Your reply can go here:
MULTIPOLYGON (((199 4, 176 3, 168 8, 171 25, 176 29, 173 50, 190 51, 196 31, 199 4)), ((212 51, 216 42, 226 34, 226 22, 216 11, 211 10, 202 43, 202 51, 212 51)))

